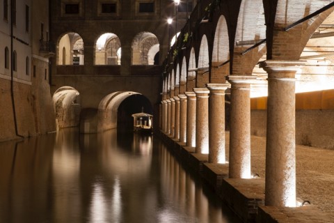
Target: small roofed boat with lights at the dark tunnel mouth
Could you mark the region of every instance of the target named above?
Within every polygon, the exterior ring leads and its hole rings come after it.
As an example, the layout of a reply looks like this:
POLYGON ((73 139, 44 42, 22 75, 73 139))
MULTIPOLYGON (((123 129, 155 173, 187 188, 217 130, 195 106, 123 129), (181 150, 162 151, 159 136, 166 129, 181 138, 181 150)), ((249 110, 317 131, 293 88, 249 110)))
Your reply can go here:
POLYGON ((143 112, 132 114, 134 117, 135 132, 151 132, 153 131, 153 116, 143 112))

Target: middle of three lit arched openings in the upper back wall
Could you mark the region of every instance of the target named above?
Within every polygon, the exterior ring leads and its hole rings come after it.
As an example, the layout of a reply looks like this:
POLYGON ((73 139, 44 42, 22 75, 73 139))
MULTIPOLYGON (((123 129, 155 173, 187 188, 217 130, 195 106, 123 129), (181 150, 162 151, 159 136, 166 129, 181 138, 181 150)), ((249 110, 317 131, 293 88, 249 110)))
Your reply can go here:
POLYGON ((120 65, 120 38, 114 33, 104 33, 95 43, 95 65, 120 65))

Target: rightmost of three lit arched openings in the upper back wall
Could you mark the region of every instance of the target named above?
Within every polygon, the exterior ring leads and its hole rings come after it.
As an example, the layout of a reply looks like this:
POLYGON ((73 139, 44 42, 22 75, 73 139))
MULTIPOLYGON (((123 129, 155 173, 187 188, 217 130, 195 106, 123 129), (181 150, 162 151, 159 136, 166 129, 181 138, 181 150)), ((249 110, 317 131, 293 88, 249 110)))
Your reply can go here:
POLYGON ((159 53, 159 40, 149 32, 138 33, 132 41, 132 65, 154 65, 159 53))

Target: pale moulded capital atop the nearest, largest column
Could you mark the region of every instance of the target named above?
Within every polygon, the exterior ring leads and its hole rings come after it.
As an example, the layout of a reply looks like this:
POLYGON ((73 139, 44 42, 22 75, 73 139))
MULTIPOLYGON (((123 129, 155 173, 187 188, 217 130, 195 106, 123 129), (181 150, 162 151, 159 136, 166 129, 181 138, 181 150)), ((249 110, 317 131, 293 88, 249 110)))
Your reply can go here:
POLYGON ((269 78, 294 78, 296 72, 306 61, 268 60, 261 62, 260 68, 268 72, 269 78))

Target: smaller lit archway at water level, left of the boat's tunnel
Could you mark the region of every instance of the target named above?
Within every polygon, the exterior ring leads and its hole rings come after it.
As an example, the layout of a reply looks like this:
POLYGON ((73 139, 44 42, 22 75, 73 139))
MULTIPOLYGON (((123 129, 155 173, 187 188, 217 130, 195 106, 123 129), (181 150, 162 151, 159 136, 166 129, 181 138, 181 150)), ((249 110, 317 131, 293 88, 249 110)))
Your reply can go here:
POLYGON ((71 86, 62 86, 52 96, 58 128, 69 128, 79 125, 81 112, 80 93, 71 86))

